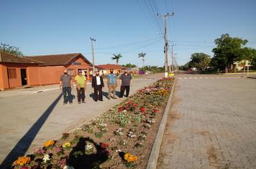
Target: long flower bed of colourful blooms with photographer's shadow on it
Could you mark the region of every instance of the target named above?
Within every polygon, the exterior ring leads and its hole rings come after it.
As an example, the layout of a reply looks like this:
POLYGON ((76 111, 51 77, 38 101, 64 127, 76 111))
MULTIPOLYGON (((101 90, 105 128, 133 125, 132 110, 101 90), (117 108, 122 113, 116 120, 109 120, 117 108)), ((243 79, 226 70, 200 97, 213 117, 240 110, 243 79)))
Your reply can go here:
POLYGON ((146 168, 172 85, 158 80, 12 168, 146 168))

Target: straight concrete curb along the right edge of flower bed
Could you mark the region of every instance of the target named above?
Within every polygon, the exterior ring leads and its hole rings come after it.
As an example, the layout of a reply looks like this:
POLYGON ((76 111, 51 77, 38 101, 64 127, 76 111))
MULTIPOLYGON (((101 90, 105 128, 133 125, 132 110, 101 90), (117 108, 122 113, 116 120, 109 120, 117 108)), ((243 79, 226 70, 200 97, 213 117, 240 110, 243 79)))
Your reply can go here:
POLYGON ((148 163, 147 163, 147 169, 157 168, 157 160, 158 160, 158 156, 159 156, 159 153, 160 153, 160 148, 161 148, 161 145, 162 145, 163 134, 165 132, 165 125, 167 123, 168 115, 169 115, 169 112, 170 112, 170 102, 171 102, 172 97, 173 97, 175 81, 176 81, 176 79, 174 79, 173 87, 172 87, 172 90, 170 92, 170 96, 168 98, 167 105, 165 107, 165 112, 163 114, 163 118, 162 118, 160 126, 158 128, 157 136, 155 137, 155 143, 154 143, 154 145, 152 147, 152 150, 151 150, 151 153, 150 153, 150 159, 148 160, 148 163))

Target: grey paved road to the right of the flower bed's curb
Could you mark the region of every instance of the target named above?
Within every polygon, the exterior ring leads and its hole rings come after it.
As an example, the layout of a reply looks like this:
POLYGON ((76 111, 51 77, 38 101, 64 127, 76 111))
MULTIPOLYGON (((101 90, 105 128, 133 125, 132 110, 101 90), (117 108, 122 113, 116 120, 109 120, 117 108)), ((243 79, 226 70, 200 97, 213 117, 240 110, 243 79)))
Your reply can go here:
POLYGON ((177 77, 157 168, 256 168, 256 80, 209 77, 177 77))

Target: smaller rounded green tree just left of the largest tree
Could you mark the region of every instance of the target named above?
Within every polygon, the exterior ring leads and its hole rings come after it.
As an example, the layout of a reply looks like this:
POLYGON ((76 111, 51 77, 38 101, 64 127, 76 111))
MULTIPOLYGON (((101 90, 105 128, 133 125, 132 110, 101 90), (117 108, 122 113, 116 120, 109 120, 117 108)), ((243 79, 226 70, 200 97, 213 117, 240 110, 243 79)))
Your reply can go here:
POLYGON ((204 53, 194 53, 191 54, 191 62, 189 62, 189 67, 196 67, 201 71, 205 71, 211 62, 211 57, 204 53))

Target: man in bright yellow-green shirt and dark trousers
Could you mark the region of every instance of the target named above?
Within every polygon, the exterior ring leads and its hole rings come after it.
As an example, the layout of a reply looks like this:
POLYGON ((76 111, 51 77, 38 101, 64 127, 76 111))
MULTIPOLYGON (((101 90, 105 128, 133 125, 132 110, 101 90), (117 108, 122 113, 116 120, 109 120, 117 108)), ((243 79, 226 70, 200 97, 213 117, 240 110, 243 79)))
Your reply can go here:
POLYGON ((82 71, 78 71, 78 75, 75 77, 76 80, 76 90, 78 92, 78 104, 81 104, 81 100, 83 103, 85 103, 84 99, 86 98, 86 95, 84 95, 84 92, 86 90, 86 77, 82 74, 82 71))

